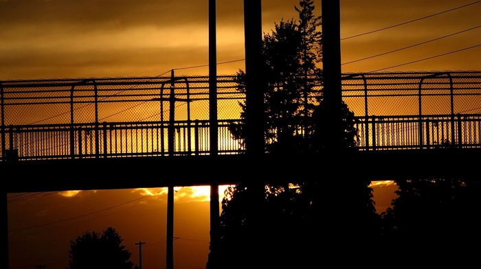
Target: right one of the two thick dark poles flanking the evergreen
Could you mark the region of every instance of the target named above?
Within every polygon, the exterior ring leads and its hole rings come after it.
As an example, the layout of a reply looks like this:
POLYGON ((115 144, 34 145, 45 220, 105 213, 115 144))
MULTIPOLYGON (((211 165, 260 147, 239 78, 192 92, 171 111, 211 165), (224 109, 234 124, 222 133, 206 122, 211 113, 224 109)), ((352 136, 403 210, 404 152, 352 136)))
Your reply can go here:
MULTIPOLYGON (((326 105, 326 113, 328 122, 326 129, 326 154, 329 156, 331 163, 339 162, 338 150, 342 144, 342 137, 344 136, 342 130, 342 91, 341 91, 341 49, 340 49, 340 7, 339 0, 321 0, 322 8, 322 60, 323 60, 323 78, 324 78, 324 102, 326 105)), ((344 156, 346 158, 346 156, 344 156)), ((343 173, 338 171, 335 165, 326 165, 324 175, 337 174, 339 179, 343 178, 343 173)), ((326 178, 322 178, 326 179, 326 178)), ((347 180, 341 180, 346 182, 347 180)), ((333 189, 334 184, 330 180, 324 180, 322 187, 326 189, 333 189)), ((342 208, 346 207, 346 202, 350 198, 350 186, 344 186, 343 197, 331 191, 324 191, 321 196, 318 196, 319 205, 317 206, 317 214, 329 215, 329 220, 323 222, 322 227, 313 233, 313 240, 315 242, 322 242, 327 246, 328 250, 325 253, 324 263, 329 264, 328 260, 341 253, 341 246, 345 245, 347 235, 344 235, 342 226, 345 222, 342 221, 342 208), (336 207, 331 205, 335 200, 336 207), (336 233, 335 239, 326 236, 326 231, 336 233)), ((311 255, 320 253, 320 247, 314 247, 311 255)))

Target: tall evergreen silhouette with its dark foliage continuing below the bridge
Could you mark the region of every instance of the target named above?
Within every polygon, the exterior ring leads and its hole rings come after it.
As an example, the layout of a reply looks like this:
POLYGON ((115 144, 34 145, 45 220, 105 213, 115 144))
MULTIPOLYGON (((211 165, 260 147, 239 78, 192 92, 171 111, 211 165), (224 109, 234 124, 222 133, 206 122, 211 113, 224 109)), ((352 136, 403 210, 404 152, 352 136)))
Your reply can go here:
MULTIPOLYGON (((265 65, 262 67, 265 81, 259 82, 264 89, 265 107, 263 115, 265 152, 280 154, 286 158, 295 158, 297 154, 322 152, 329 143, 325 141, 326 117, 322 91, 313 91, 315 86, 322 86, 322 69, 317 62, 322 60, 322 33, 320 16, 313 15, 314 1, 301 0, 298 11, 299 21, 294 19, 275 23, 270 34, 265 34, 262 55, 265 65)), ((238 91, 245 92, 245 73, 237 73, 238 91)), ((241 119, 245 119, 247 106, 239 103, 241 119)), ((342 148, 355 150, 357 146, 357 129, 354 114, 343 102, 344 144, 342 148)), ((243 124, 232 124, 230 131, 239 143, 245 141, 243 124)), ((262 161, 262 160, 260 160, 262 161)), ((249 183, 238 183, 225 190, 222 201, 221 246, 218 253, 209 254, 207 268, 311 268, 320 263, 320 255, 325 242, 322 233, 344 233, 342 229, 356 226, 355 232, 346 233, 350 242, 368 239, 378 232, 379 215, 375 213, 370 181, 350 180, 346 188, 348 198, 346 207, 337 209, 332 206, 335 185, 332 180, 346 180, 342 173, 333 178, 322 178, 322 169, 329 167, 266 167, 266 169, 298 169, 298 178, 289 182, 278 178, 259 178, 269 182, 265 186, 265 199, 254 204, 260 207, 263 233, 256 233, 258 221, 255 220, 251 204, 257 190, 249 183), (348 209, 357 203, 357 208, 348 209), (328 208, 328 210, 325 210, 328 208), (333 209, 335 208, 335 209, 333 209), (346 211, 351 215, 348 215, 346 211), (348 217, 346 217, 348 215, 348 217), (356 224, 351 216, 354 215, 356 224), (326 220, 337 218, 335 224, 326 226, 326 220), (372 225, 375 223, 376 225, 372 225), (327 229, 336 228, 336 231, 327 229), (374 228, 372 228, 374 227, 374 228), (367 231, 366 229, 371 229, 367 231), (353 237, 356 235, 356 237, 353 237), (262 244, 261 248, 254 248, 262 244), (258 250, 262 253, 253 253, 258 250), (257 259, 254 257, 265 257, 257 259), (217 266, 217 267, 216 267, 217 266)), ((336 183, 337 185, 337 183, 336 183)), ((344 199, 344 198, 343 198, 344 199)), ((340 236, 339 236, 340 237, 340 236)), ((342 241, 344 244, 344 241, 342 241)), ((344 245, 345 246, 345 245, 344 245)), ((339 254, 344 254, 340 252, 339 254)))

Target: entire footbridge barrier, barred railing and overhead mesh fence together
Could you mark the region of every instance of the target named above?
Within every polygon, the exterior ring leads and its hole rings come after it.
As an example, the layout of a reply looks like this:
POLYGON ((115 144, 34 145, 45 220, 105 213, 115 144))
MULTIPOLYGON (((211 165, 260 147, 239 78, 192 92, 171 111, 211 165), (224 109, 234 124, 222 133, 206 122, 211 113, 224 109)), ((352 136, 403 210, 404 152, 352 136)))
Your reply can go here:
MULTIPOLYGON (((310 100, 322 81, 309 78, 310 100)), ((245 93, 217 80, 218 153, 244 152, 230 133, 245 93)), ((8 80, 1 160, 210 154, 209 78, 8 80)), ((358 150, 481 148, 481 71, 346 73, 358 150)), ((315 102, 315 101, 312 101, 315 102)))

